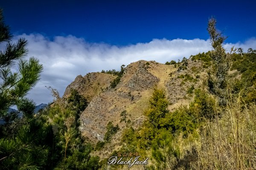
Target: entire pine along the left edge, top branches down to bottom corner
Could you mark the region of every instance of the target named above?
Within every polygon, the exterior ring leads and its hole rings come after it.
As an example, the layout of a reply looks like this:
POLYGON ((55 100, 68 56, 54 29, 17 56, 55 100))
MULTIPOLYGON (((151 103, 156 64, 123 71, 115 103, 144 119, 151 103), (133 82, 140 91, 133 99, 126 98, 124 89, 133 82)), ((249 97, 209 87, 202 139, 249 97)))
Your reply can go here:
POLYGON ((40 79, 38 59, 24 59, 27 41, 12 42, 0 9, 0 169, 39 169, 47 164, 52 128, 33 116, 35 103, 26 97, 40 79), (13 72, 12 70, 17 70, 13 72), (16 107, 17 111, 9 112, 16 107))

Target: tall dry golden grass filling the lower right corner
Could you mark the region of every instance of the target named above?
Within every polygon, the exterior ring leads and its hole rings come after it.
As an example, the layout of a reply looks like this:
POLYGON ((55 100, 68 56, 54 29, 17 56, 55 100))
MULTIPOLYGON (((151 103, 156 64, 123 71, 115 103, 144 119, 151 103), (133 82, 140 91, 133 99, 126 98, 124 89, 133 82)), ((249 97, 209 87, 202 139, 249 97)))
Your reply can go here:
POLYGON ((256 106, 232 102, 201 131, 196 170, 256 169, 256 106))

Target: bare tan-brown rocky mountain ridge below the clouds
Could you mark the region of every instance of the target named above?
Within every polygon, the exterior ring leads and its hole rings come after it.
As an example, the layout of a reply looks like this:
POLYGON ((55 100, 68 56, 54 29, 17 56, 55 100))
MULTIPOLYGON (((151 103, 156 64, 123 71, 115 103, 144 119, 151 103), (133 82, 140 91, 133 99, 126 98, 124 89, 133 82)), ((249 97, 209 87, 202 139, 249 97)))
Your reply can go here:
MULTIPOLYGON (((63 97, 69 96, 70 89, 74 88, 89 101, 88 107, 81 113, 79 128, 82 135, 90 141, 103 141, 108 122, 119 125, 120 130, 111 142, 111 145, 119 147, 122 130, 126 127, 124 122, 120 122, 120 113, 127 111, 127 120, 131 121, 134 129, 139 129, 146 119, 144 111, 149 106, 154 88, 161 88, 166 92, 169 110, 192 101, 193 96, 187 91, 192 86, 198 88, 203 84, 207 68, 203 67, 203 61, 192 61, 191 58, 185 60, 187 65, 184 68, 181 68, 183 62, 178 66, 145 60, 132 62, 125 67, 116 88, 109 87, 116 77, 111 74, 96 72, 84 77, 78 76, 67 86, 63 97)), ((108 144, 107 147, 111 149, 98 153, 100 157, 103 158, 114 150, 108 144)))

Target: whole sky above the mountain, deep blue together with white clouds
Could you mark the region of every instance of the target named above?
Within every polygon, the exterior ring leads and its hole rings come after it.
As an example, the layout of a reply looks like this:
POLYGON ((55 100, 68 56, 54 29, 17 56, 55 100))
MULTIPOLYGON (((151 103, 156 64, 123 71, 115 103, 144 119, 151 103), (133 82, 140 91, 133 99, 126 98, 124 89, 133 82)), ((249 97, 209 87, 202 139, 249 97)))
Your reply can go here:
POLYGON ((37 57, 44 66, 29 94, 37 104, 52 101, 45 86, 62 95, 80 74, 211 50, 211 16, 228 36, 227 51, 256 49, 255 0, 2 0, 0 7, 13 41, 25 37, 27 58, 37 57))

